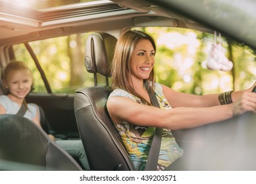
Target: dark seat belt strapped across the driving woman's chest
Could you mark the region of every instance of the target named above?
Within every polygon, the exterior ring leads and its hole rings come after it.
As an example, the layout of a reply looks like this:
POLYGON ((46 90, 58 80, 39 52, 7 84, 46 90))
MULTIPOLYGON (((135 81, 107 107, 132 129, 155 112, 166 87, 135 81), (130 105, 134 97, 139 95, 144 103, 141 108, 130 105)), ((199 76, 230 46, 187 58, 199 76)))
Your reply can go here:
MULTIPOLYGON (((152 94, 150 91, 147 91, 147 93, 149 94, 149 98, 153 106, 160 108, 155 92, 152 94)), ((149 150, 149 156, 147 157, 147 164, 145 166, 145 171, 157 170, 162 133, 163 133, 163 128, 159 128, 159 127, 155 128, 155 135, 153 137, 151 148, 149 150)))

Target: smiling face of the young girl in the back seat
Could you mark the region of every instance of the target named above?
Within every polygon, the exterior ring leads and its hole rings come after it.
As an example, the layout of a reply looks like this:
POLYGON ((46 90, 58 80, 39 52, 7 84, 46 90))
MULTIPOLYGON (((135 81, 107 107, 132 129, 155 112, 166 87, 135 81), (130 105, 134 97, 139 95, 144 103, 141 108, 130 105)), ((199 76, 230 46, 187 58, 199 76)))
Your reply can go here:
POLYGON ((24 99, 30 93, 32 82, 30 72, 27 70, 13 70, 7 76, 5 87, 13 97, 24 99))

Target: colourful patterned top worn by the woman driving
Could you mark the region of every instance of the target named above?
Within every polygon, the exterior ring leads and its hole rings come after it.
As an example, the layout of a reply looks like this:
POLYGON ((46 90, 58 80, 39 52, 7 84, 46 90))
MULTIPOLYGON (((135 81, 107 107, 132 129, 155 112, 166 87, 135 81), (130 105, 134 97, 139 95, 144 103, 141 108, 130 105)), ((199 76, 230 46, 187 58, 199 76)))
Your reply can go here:
MULTIPOLYGON (((159 101, 160 108, 172 108, 163 94, 163 88, 160 83, 155 83, 155 94, 159 101)), ((109 98, 111 97, 128 97, 137 103, 143 104, 138 97, 123 89, 115 89, 111 95, 109 95, 109 98)), ((136 126, 129 122, 115 124, 115 127, 122 138, 122 142, 124 143, 136 170, 145 170, 147 157, 151 148, 153 136, 155 135, 155 127, 136 126)), ((176 143, 170 129, 163 129, 157 170, 165 170, 166 167, 179 157, 182 157, 182 155, 183 149, 176 143)))

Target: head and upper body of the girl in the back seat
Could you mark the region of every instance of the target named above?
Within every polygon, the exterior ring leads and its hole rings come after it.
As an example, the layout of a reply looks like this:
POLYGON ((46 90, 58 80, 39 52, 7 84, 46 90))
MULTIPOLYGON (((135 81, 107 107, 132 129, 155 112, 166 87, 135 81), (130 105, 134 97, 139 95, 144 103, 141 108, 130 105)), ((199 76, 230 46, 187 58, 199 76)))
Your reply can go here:
POLYGON ((3 74, 3 87, 7 89, 7 95, 0 96, 0 114, 16 114, 20 106, 26 106, 24 117, 35 122, 39 127, 39 109, 36 104, 27 104, 26 95, 32 89, 32 74, 24 62, 11 62, 3 74))

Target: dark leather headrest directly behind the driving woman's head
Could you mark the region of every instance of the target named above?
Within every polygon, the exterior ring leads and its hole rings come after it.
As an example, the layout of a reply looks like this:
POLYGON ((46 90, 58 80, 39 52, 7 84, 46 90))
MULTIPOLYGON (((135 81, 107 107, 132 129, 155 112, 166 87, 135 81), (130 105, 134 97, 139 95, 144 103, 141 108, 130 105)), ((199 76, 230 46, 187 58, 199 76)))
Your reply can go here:
POLYGON ((116 41, 116 37, 104 32, 96 32, 88 36, 85 48, 85 65, 88 72, 111 77, 110 65, 116 41))

